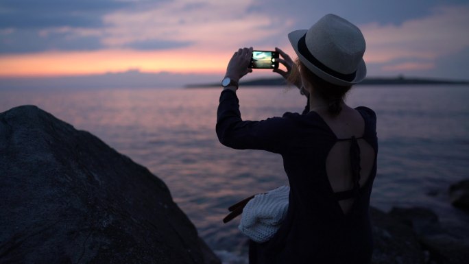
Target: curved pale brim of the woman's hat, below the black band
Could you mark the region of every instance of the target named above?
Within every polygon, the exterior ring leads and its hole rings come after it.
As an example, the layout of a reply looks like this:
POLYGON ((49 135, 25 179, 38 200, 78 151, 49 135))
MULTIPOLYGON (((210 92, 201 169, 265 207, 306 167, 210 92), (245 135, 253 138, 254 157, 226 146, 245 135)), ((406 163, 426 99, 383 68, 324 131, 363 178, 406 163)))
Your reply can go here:
POLYGON ((363 81, 363 79, 365 79, 366 65, 365 65, 365 61, 363 60, 363 58, 359 62, 359 65, 357 67, 357 72, 355 73, 354 80, 352 81, 342 80, 333 75, 330 75, 322 71, 318 67, 316 67, 315 64, 309 62, 309 60, 304 58, 304 56, 302 56, 302 54, 298 51, 298 41, 300 40, 300 38, 302 38, 306 34, 306 32, 308 32, 308 30, 306 29, 301 29, 301 30, 290 32, 288 34, 288 39, 290 40, 291 46, 295 50, 298 58, 300 58, 304 66, 306 66, 310 71, 315 73, 315 75, 319 76, 320 78, 322 78, 322 80, 325 80, 326 82, 330 82, 331 84, 336 84, 339 86, 350 86, 353 84, 358 84, 359 82, 363 81))

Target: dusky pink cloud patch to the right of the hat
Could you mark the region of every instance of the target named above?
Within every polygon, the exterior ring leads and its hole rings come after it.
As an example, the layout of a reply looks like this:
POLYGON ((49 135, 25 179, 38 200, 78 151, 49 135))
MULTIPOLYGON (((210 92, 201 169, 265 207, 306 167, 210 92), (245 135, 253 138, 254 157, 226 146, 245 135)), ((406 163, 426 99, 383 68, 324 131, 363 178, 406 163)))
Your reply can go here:
POLYGON ((457 53, 469 46, 468 14, 469 5, 440 7, 429 16, 400 25, 361 25, 367 40, 365 58, 375 63, 412 58, 433 61, 457 53))

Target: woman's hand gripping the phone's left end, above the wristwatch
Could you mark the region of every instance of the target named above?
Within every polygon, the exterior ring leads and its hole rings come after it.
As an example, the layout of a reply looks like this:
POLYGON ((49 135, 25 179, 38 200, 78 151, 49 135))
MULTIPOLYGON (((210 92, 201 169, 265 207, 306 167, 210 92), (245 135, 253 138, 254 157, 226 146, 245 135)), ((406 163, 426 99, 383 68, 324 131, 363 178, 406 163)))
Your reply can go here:
POLYGON ((226 67, 225 77, 230 77, 231 80, 239 81, 241 77, 248 73, 252 73, 252 69, 248 66, 251 62, 252 47, 239 49, 234 52, 228 67, 226 67))

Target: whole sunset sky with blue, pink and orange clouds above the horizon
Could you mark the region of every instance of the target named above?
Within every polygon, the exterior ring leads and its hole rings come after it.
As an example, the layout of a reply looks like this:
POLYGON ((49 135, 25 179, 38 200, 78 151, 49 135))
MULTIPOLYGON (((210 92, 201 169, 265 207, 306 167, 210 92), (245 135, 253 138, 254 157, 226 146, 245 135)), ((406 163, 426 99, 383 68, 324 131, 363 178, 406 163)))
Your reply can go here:
POLYGON ((0 82, 128 73, 218 81, 238 47, 294 57, 287 34, 327 13, 361 28, 370 77, 469 79, 467 0, 0 0, 0 82))

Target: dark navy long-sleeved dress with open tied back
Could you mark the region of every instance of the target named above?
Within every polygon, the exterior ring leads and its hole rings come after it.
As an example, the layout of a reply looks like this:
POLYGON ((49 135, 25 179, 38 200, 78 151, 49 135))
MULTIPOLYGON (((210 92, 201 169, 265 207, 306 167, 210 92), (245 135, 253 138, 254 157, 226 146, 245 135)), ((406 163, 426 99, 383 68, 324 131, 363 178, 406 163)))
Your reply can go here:
POLYGON ((290 184, 287 217, 266 243, 250 242, 250 263, 370 263, 372 226, 368 208, 376 176, 376 115, 356 108, 365 121, 363 139, 374 149, 372 173, 353 195, 347 214, 326 175, 326 158, 340 141, 326 122, 306 106, 302 115, 286 112, 263 121, 243 121, 233 91, 222 91, 217 111, 219 141, 234 149, 263 149, 282 155, 290 184))

